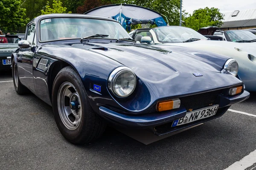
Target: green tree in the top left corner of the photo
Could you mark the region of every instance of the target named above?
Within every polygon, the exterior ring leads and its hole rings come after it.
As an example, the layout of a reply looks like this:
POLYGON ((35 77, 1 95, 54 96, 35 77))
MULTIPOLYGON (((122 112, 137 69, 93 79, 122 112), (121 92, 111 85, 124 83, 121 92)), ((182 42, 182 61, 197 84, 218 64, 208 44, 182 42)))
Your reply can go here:
POLYGON ((0 1, 0 27, 3 31, 16 31, 18 27, 25 26, 29 18, 23 19, 26 9, 21 8, 20 0, 0 1))

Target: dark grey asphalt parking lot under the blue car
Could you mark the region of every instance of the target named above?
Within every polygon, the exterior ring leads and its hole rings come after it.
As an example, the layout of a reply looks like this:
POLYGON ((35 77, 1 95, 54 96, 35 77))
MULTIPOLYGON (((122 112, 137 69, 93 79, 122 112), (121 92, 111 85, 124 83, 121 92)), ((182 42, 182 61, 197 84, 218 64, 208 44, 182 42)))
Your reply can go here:
POLYGON ((17 95, 11 72, 2 71, 0 169, 256 170, 256 93, 230 109, 149 145, 108 128, 99 141, 76 146, 62 137, 52 108, 33 94, 17 95))

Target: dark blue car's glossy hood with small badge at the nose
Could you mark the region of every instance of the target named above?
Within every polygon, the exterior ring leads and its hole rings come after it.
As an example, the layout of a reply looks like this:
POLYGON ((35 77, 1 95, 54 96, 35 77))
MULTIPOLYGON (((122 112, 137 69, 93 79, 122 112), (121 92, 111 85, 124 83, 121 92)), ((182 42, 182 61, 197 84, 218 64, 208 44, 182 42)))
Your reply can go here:
POLYGON ((94 51, 131 68, 157 98, 241 83, 231 74, 221 73, 228 57, 190 48, 173 46, 172 49, 166 50, 151 45, 115 43, 84 43, 71 46, 94 51), (203 76, 196 77, 195 73, 203 76))

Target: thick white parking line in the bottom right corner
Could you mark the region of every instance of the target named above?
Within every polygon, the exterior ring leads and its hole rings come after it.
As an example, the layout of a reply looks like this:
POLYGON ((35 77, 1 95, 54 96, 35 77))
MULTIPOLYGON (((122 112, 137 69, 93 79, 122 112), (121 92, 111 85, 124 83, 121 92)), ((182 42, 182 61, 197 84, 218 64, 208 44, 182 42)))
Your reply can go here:
POLYGON ((256 163, 256 150, 245 156, 240 161, 233 163, 225 170, 245 170, 247 167, 252 166, 254 163, 256 163))

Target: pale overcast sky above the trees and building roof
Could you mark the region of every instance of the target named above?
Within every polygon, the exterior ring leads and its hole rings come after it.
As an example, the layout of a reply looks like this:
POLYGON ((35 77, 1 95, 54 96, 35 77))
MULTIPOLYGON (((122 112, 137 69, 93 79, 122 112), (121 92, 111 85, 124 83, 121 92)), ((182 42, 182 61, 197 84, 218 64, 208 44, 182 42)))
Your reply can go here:
POLYGON ((189 14, 205 7, 219 8, 222 13, 256 8, 256 0, 182 0, 182 3, 183 9, 189 14))

